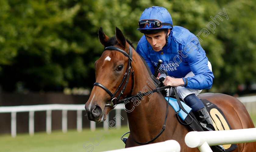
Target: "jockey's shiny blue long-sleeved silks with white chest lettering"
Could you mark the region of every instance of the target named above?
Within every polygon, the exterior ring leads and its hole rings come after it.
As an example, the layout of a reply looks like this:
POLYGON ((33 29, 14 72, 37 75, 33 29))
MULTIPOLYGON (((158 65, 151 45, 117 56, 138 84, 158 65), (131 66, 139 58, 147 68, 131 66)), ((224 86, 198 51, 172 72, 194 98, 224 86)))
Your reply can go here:
MULTIPOLYGON (((208 58, 197 37, 189 30, 174 26, 170 31, 167 46, 161 51, 154 51, 143 35, 137 45, 136 52, 140 54, 154 73, 154 66, 161 59, 160 70, 175 78, 184 78, 190 71, 195 76, 187 77, 186 88, 209 89, 212 87, 213 73, 208 67, 208 58)), ((184 79, 183 79, 184 80, 184 79)))

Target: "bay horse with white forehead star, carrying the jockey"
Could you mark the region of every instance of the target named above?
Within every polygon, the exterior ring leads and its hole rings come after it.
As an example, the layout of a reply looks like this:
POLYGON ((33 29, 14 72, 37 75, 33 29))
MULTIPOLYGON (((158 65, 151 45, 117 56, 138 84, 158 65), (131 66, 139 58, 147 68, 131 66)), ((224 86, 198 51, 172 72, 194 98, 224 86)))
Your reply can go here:
MULTIPOLYGON (((116 27, 116 36, 109 38, 102 28, 98 31, 105 51, 95 62, 96 83, 85 104, 87 118, 103 122, 119 99, 136 95, 145 88, 154 88, 149 83, 151 74, 139 54, 116 27), (123 89, 122 89, 123 88, 123 89)), ((254 124, 245 106, 236 98, 220 93, 202 93, 199 98, 207 99, 222 109, 232 129, 254 128, 254 124)), ((125 108, 130 128, 130 135, 125 147, 139 146, 158 135, 165 122, 167 102, 160 92, 143 96, 140 100, 127 100, 125 108)), ((185 136, 190 131, 181 125, 172 108, 168 109, 165 130, 151 143, 176 140, 182 152, 198 152, 197 148, 187 147, 185 136)), ((221 138, 221 137, 220 137, 221 138)), ((255 152, 256 142, 238 143, 233 152, 255 152)))

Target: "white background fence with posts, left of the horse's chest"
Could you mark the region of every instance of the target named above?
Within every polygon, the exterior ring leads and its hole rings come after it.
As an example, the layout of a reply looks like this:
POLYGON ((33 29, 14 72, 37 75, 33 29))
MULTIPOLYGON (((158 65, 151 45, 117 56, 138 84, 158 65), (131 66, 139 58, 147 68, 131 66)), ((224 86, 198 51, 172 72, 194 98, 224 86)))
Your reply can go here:
MULTIPOLYGON (((123 109, 123 104, 116 106, 116 115, 121 115, 121 109, 123 109)), ((34 135, 34 112, 36 111, 46 111, 46 132, 50 134, 52 132, 52 110, 62 110, 62 132, 67 132, 67 112, 68 110, 77 111, 77 131, 82 131, 82 111, 84 109, 84 104, 80 105, 70 105, 70 104, 48 104, 48 105, 21 105, 21 106, 2 106, 0 107, 0 113, 11 113, 11 135, 16 136, 16 115, 17 112, 29 112, 29 134, 34 135)), ((116 127, 121 127, 121 118, 116 118, 116 127)), ((108 116, 107 120, 104 122, 104 128, 108 127, 108 116)), ((96 123, 90 121, 91 131, 96 129, 96 123)))

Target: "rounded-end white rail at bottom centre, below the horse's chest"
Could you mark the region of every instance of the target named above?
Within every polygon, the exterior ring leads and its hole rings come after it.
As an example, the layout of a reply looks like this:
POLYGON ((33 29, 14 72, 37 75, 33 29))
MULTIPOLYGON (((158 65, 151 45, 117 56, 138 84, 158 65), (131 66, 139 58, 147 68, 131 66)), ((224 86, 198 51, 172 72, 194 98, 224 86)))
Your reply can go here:
POLYGON ((130 151, 147 151, 147 152, 180 152, 180 144, 176 140, 166 140, 160 143, 110 150, 105 152, 130 152, 130 151))

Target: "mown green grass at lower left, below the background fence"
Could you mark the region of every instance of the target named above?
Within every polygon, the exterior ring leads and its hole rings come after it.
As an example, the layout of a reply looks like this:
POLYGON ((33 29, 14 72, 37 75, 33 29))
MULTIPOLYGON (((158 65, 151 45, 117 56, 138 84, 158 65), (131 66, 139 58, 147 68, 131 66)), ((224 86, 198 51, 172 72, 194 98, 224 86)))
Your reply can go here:
POLYGON ((99 152, 125 147, 125 144, 120 138, 124 133, 129 131, 128 127, 122 127, 119 130, 108 128, 108 131, 105 130, 105 132, 101 130, 103 129, 99 128, 91 132, 89 129, 84 129, 81 133, 78 133, 76 130, 68 130, 67 133, 53 131, 49 135, 45 132, 40 132, 35 133, 34 136, 29 136, 28 133, 22 133, 18 134, 15 138, 12 138, 9 134, 0 135, 0 151, 86 152, 93 150, 93 152, 99 152), (102 136, 100 136, 100 133, 102 136), (100 141, 98 141, 97 138, 100 141), (87 149, 84 149, 83 146, 87 149))

